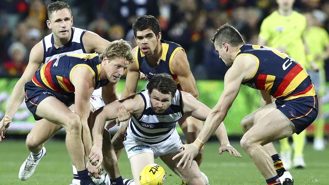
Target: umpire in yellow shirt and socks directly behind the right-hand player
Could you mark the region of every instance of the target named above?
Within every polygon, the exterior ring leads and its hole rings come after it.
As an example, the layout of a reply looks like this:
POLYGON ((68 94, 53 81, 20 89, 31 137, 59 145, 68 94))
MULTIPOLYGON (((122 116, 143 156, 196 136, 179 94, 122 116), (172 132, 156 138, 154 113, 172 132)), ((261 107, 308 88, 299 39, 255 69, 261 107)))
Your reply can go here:
MULTIPOLYGON (((276 0, 278 10, 264 19, 259 33, 258 44, 268 45, 276 48, 294 58, 304 68, 307 68, 307 45, 303 38, 306 29, 306 18, 304 15, 293 10, 294 0, 276 0)), ((306 131, 299 135, 293 134, 294 160, 296 168, 304 168, 303 150, 306 131)), ((284 168, 289 170, 292 167, 292 147, 288 138, 280 140, 280 156, 284 168)))

